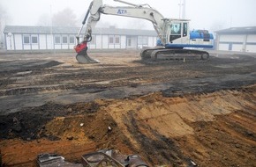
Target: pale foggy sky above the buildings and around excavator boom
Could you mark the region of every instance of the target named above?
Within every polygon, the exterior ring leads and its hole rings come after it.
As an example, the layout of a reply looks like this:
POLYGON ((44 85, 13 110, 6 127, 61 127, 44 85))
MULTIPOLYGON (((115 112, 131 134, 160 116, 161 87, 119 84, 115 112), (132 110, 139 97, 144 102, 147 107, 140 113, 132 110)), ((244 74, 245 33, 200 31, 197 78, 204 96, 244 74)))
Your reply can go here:
MULTIPOLYGON (((150 4, 165 18, 179 18, 181 0, 126 0, 132 4, 150 4)), ((88 0, 0 0, 11 20, 7 25, 36 25, 43 14, 53 15, 64 8, 71 8, 79 22, 87 12, 91 1, 88 0)), ((112 0, 103 0, 104 4, 123 5, 112 0)), ((255 0, 186 0, 185 18, 191 19, 191 29, 223 29, 235 26, 256 26, 255 0)), ((141 21, 144 29, 153 29, 151 23, 141 21)), ((127 28, 136 23, 134 18, 102 16, 101 21, 119 28, 127 28)))

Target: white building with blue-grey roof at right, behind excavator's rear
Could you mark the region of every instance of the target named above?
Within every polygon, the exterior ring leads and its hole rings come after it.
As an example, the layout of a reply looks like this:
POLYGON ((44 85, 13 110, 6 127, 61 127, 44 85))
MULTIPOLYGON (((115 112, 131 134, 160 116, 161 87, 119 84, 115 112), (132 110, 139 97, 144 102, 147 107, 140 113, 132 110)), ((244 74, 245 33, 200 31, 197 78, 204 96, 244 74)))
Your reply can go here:
POLYGON ((256 53, 256 26, 233 27, 215 33, 217 50, 256 53))

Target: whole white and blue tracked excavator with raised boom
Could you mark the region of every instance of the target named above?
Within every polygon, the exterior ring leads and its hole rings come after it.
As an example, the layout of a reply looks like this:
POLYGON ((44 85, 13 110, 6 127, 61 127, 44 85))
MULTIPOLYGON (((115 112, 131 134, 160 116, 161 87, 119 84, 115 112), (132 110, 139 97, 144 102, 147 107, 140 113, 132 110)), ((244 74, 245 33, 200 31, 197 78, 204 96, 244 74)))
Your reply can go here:
POLYGON ((164 18, 159 11, 154 10, 149 4, 131 4, 123 0, 113 1, 125 5, 109 6, 102 4, 102 0, 93 0, 89 5, 82 26, 76 36, 78 45, 74 47, 77 52, 76 59, 79 63, 98 62, 88 56, 87 48, 101 14, 142 18, 152 22, 159 40, 157 40, 156 47, 141 50, 142 60, 208 59, 209 54, 201 48, 213 47, 214 36, 212 33, 208 33, 207 30, 190 31, 189 19, 164 18), (86 32, 82 38, 83 41, 80 42, 80 33, 86 22, 86 32))

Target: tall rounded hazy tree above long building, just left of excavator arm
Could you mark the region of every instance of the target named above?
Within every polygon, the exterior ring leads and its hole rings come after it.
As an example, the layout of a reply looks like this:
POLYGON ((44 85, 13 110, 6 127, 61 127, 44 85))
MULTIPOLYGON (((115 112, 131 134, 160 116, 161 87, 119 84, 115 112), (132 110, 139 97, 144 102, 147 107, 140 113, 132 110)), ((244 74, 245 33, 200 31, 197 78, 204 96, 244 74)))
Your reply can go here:
POLYGON ((76 15, 70 8, 65 8, 54 14, 52 25, 54 26, 77 26, 76 15))

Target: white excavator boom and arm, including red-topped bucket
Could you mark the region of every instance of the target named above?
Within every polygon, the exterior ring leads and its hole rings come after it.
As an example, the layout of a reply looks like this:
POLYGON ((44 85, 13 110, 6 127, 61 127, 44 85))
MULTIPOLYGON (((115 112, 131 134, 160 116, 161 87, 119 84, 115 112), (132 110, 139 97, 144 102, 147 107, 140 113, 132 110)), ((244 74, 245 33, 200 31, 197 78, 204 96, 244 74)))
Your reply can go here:
POLYGON ((94 0, 88 10, 86 17, 83 20, 83 25, 79 30, 77 35, 78 45, 75 47, 77 54, 77 61, 80 63, 92 63, 98 62, 87 55, 87 42, 92 40, 92 33, 96 23, 100 20, 101 14, 106 15, 117 15, 121 17, 129 18, 142 18, 148 21, 151 21, 154 25, 154 30, 159 36, 162 44, 167 43, 167 29, 168 29, 168 19, 163 18, 162 14, 148 4, 131 4, 124 2, 122 0, 114 0, 119 3, 128 4, 128 6, 109 6, 102 4, 102 0, 94 0), (90 15, 90 16, 89 16, 90 15), (83 41, 79 42, 80 33, 83 29, 83 26, 87 22, 86 33, 83 37, 83 41))

